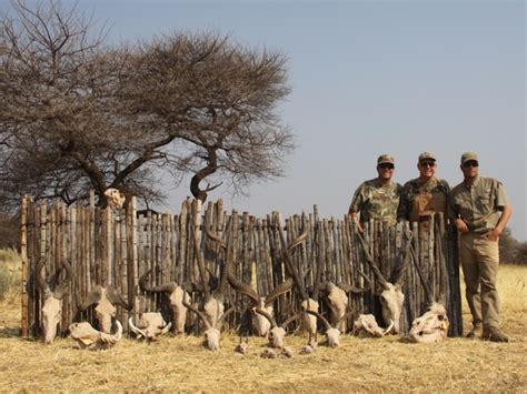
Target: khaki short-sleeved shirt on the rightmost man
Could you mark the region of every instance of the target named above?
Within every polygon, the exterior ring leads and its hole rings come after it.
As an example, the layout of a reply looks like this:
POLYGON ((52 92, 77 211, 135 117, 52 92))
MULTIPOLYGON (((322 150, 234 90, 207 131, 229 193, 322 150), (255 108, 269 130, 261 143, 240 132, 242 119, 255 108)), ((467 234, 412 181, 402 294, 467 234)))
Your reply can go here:
POLYGON ((469 231, 487 232, 496 228, 508 205, 504 185, 494 178, 478 176, 474 184, 459 183, 450 193, 449 218, 461 218, 469 231))

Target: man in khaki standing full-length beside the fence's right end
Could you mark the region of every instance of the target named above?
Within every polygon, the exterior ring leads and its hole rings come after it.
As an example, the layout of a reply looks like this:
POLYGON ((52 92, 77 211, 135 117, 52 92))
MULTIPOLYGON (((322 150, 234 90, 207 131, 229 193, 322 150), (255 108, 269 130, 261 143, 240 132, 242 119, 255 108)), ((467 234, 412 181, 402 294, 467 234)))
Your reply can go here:
POLYGON ((499 330, 496 277, 499 266, 498 240, 513 210, 503 184, 496 179, 479 176, 476 153, 464 153, 460 168, 464 181, 451 191, 449 216, 461 233, 459 256, 473 315, 473 330, 467 336, 508 342, 507 335, 499 330))

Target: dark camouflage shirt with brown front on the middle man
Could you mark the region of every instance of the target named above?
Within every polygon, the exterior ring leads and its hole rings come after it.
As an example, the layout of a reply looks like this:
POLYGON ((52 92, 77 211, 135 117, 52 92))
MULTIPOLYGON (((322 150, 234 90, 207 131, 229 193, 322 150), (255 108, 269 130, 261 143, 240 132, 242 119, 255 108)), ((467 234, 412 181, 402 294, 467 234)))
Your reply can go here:
POLYGON ((436 212, 447 212, 448 182, 439 178, 431 178, 422 182, 419 178, 408 181, 402 186, 398 219, 417 222, 427 219, 436 212))

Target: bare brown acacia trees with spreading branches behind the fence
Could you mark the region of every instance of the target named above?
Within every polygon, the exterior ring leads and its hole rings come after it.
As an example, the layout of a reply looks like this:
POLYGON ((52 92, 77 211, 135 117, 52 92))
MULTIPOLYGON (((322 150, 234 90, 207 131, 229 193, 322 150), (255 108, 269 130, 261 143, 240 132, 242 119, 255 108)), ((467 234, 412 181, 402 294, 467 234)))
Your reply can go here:
POLYGON ((276 115, 289 93, 284 54, 209 33, 107 47, 74 8, 12 9, 0 21, 4 208, 24 193, 69 204, 107 188, 162 200, 158 168, 175 184, 190 174, 201 200, 226 179, 282 174, 294 149, 276 115))

